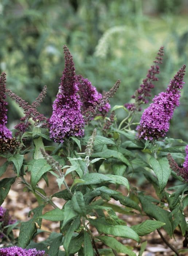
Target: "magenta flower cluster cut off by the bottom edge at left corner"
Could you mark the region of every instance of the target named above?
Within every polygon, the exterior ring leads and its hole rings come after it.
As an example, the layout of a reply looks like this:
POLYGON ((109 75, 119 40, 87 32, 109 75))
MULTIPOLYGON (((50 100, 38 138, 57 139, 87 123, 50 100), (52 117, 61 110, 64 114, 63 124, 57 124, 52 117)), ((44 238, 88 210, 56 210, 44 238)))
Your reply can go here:
POLYGON ((1 256, 47 256, 45 251, 37 251, 34 249, 23 249, 18 246, 0 248, 1 256))

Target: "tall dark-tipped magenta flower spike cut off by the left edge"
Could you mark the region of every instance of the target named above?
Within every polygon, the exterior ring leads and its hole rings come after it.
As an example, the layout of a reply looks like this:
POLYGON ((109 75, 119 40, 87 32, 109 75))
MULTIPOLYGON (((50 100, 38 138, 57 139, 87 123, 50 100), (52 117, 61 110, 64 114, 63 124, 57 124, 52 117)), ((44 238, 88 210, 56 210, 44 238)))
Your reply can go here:
POLYGON ((6 127, 7 124, 7 108, 8 103, 4 101, 6 99, 6 74, 3 72, 0 76, 0 139, 5 142, 7 139, 12 138, 11 131, 6 127))

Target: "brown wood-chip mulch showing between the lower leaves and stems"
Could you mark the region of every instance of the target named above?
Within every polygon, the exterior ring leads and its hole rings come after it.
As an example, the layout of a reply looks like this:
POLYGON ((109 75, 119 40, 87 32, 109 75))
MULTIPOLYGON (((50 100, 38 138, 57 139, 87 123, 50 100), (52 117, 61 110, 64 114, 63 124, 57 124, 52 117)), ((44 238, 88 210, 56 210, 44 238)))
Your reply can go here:
MULTIPOLYGON (((3 164, 5 159, 1 158, 0 159, 0 166, 3 164)), ((8 166, 7 171, 1 178, 5 177, 13 177, 15 176, 13 170, 11 169, 11 166, 8 166)), ((29 181, 30 177, 27 174, 26 179, 29 181)), ((58 192, 58 185, 55 181, 55 177, 51 174, 48 174, 48 179, 49 179, 49 184, 50 186, 47 187, 46 182, 44 180, 41 180, 39 182, 39 187, 43 188, 47 196, 52 195, 55 192, 58 192)), ((3 207, 7 208, 9 210, 9 214, 12 216, 12 218, 15 218, 20 221, 27 221, 28 220, 28 212, 35 208, 38 207, 38 202, 35 198, 35 196, 32 193, 29 193, 27 191, 23 192, 24 185, 20 183, 21 179, 17 178, 16 182, 12 185, 7 198, 5 199, 5 202, 2 204, 3 207)), ((67 183, 71 184, 71 179, 68 178, 67 183)), ((134 184, 134 180, 131 180, 131 184, 134 184)), ((70 185, 69 184, 69 185, 70 185)), ((136 184, 136 182, 135 182, 136 184)), ((63 189, 63 187, 62 187, 63 189)), ((125 190, 125 187, 120 186, 119 190, 123 194, 127 194, 127 191, 125 190)), ((142 188, 143 190, 143 188, 142 188)), ((153 197, 156 197, 155 191, 152 187, 151 184, 145 184, 145 191, 149 191, 150 195, 153 197)), ((53 197, 53 202, 58 206, 62 207, 65 201, 63 199, 59 199, 56 197, 53 197)), ((118 206, 121 206, 121 204, 118 201, 115 201, 111 199, 111 202, 113 204, 117 204, 118 206)), ((52 210, 53 207, 51 205, 47 205, 44 207, 43 213, 46 211, 52 210)), ((119 218, 123 219, 128 226, 132 225, 137 225, 141 223, 142 221, 148 219, 146 216, 141 216, 136 210, 134 215, 124 215, 124 214, 119 214, 117 213, 119 218)), ((42 221, 42 230, 46 231, 56 231, 59 232, 59 222, 51 222, 44 220, 42 221)), ((95 235, 98 235, 97 230, 91 227, 91 230, 95 235)), ((161 232, 165 239, 173 245, 176 249, 185 249, 183 248, 183 240, 181 237, 181 233, 179 229, 175 230, 175 240, 170 238, 167 233, 165 232, 164 229, 161 229, 161 232)), ((19 230, 14 231, 15 235, 19 235, 19 230)), ((49 236, 49 233, 41 233, 36 237, 36 242, 43 241, 49 236)), ((120 242, 122 242, 126 246, 132 246, 134 248, 134 252, 138 255, 138 252, 140 250, 140 245, 136 241, 133 241, 131 239, 123 239, 123 238, 118 238, 120 242)), ((141 243, 147 241, 147 246, 145 252, 142 254, 143 256, 172 256, 175 255, 174 252, 171 251, 170 248, 161 240, 161 237, 157 233, 157 231, 154 231, 151 234, 148 234, 147 236, 141 237, 141 243)), ((2 246, 2 244, 1 244, 2 246)), ((106 246, 102 245, 102 243, 98 243, 99 248, 107 248, 106 246)), ((119 253, 118 255, 125 255, 124 253, 119 253)), ((186 253, 182 253, 181 255, 186 255, 186 253)), ((187 254, 188 255, 188 254, 187 254)))

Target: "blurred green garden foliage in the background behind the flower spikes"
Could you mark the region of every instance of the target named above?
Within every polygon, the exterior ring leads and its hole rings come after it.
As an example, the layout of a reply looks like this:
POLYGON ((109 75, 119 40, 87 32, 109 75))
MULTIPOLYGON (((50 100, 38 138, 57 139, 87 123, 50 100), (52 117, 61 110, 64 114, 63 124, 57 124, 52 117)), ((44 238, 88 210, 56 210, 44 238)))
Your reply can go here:
MULTIPOLYGON (((50 116, 64 68, 62 46, 67 44, 77 74, 88 78, 99 91, 110 89, 117 79, 122 81, 111 101, 111 105, 120 105, 130 101, 164 45, 154 96, 187 64, 187 13, 184 0, 1 0, 0 71, 8 75, 7 87, 28 102, 34 101, 46 84, 48 94, 40 111, 50 116)), ((169 134, 185 140, 187 77, 169 134)), ((21 111, 10 100, 8 113, 13 127, 21 111)))

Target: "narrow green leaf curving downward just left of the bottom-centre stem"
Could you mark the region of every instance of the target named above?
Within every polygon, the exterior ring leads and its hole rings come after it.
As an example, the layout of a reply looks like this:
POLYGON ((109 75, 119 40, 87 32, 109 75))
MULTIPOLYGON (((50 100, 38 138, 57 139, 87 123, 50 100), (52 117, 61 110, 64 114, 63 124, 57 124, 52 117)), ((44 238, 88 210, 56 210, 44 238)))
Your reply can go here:
POLYGON ((73 236, 73 233, 75 230, 77 230, 80 226, 80 218, 76 218, 69 226, 66 235, 64 236, 64 242, 63 247, 66 253, 66 256, 68 256, 68 246, 70 244, 71 238, 73 236))

